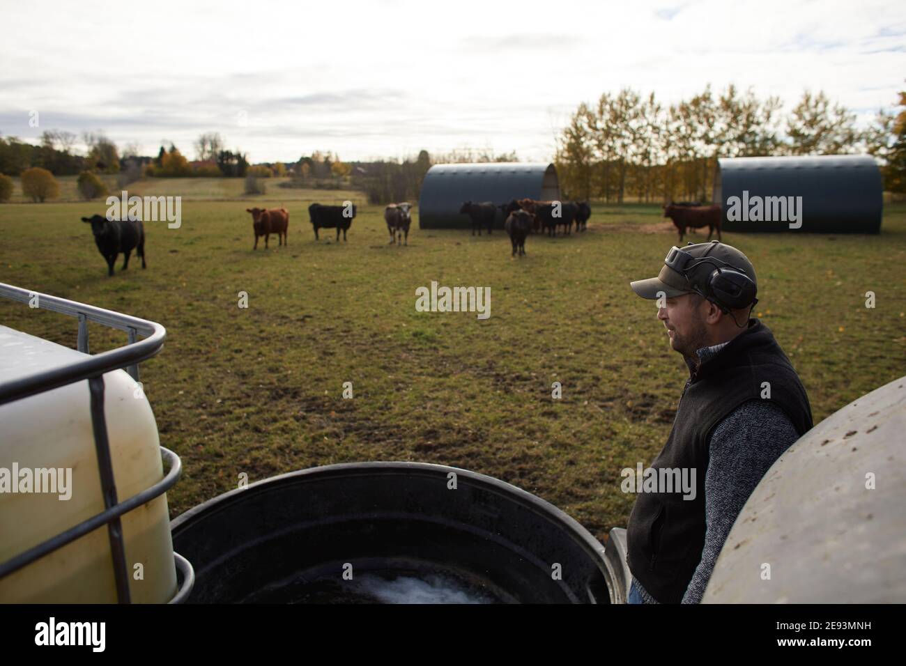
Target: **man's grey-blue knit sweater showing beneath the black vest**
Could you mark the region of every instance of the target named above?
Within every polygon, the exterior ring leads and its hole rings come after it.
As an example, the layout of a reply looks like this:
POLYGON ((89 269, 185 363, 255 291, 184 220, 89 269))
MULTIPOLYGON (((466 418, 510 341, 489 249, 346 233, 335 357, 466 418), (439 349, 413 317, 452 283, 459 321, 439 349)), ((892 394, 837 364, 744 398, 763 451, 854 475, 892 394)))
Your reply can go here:
MULTIPOLYGON (((699 362, 705 362, 724 346, 699 349, 699 362)), ((695 369, 686 360, 689 371, 695 369)), ((699 603, 705 593, 720 549, 736 522, 746 500, 758 482, 799 435, 792 421, 773 402, 744 402, 720 421, 708 444, 708 472, 705 474, 705 545, 682 603, 699 603)), ((633 576, 632 583, 645 603, 659 603, 633 576)))

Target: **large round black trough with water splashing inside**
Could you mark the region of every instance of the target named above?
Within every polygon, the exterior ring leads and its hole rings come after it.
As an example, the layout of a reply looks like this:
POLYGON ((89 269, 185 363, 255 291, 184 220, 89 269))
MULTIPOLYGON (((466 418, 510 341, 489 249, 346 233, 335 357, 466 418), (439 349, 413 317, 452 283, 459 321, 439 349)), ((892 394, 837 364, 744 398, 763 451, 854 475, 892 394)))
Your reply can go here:
POLYGON ((195 568, 189 603, 614 602, 583 526, 443 465, 303 469, 189 509, 172 532, 195 568))

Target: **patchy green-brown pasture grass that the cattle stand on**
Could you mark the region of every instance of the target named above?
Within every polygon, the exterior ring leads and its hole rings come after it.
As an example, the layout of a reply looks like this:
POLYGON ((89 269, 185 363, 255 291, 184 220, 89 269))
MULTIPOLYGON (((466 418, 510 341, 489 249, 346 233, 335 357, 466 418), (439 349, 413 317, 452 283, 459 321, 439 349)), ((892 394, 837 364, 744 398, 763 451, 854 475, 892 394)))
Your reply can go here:
MULTIPOLYGON (((511 260, 503 232, 414 225, 408 247, 389 246, 379 207, 361 209, 348 243, 315 243, 307 203, 287 205, 288 246, 272 237, 253 252, 248 204, 184 201, 178 229, 146 225, 148 269, 133 257, 112 278, 79 221, 101 204, 0 206, 0 281, 167 327, 142 379, 161 443, 185 468, 168 494, 173 515, 236 487, 240 472, 254 481, 419 460, 523 487, 601 539, 625 526, 634 496, 621 492, 620 470, 657 455, 688 377, 654 303, 629 287, 657 275, 677 241, 660 209, 596 207, 586 233, 530 237, 527 256, 511 260), (415 290, 432 280, 490 286, 491 317, 416 312, 415 290)), ((724 240, 756 266, 761 318, 815 423, 904 373, 906 206, 886 208, 879 236, 724 240)), ((0 303, 0 321, 75 344, 69 317, 0 303)), ((124 342, 92 328, 94 352, 124 342)))

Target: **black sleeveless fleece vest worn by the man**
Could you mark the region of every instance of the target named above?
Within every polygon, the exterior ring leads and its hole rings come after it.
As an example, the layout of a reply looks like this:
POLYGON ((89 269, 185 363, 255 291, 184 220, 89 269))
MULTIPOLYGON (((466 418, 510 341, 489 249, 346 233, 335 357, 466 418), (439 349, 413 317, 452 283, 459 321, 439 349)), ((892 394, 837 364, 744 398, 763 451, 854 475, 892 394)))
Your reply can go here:
MULTIPOLYGON (((694 499, 683 492, 640 492, 627 527, 627 562, 632 575, 660 603, 679 603, 705 545, 705 474, 712 431, 743 402, 770 398, 795 426, 799 436, 812 428, 812 409, 802 382, 759 320, 692 372, 679 398, 673 429, 651 468, 695 471, 694 499)), ((688 473, 688 472, 687 472, 688 473)))

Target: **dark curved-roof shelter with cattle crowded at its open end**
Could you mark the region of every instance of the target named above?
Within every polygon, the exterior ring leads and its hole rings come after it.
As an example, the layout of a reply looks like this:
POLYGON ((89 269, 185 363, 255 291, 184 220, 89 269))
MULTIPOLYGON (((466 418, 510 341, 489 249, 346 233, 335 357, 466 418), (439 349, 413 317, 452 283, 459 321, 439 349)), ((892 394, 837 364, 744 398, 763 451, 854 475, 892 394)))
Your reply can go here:
MULTIPOLYGON (((490 162, 487 164, 436 164, 421 185, 419 228, 467 229, 467 215, 460 215, 464 201, 503 204, 514 198, 539 201, 560 199, 560 181, 553 164, 490 162)), ((503 228, 503 212, 496 228, 503 228)))

